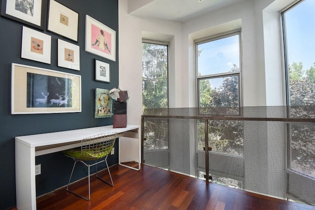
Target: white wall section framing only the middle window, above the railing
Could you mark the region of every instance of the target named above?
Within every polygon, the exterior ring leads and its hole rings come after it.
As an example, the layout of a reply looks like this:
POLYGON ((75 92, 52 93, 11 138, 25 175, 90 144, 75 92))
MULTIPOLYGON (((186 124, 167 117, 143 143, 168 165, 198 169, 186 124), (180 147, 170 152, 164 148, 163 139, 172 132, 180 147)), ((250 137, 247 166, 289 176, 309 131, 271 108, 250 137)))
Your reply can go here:
MULTIPOLYGON (((189 106, 195 105, 194 64, 193 64, 193 39, 215 35, 242 27, 242 55, 243 55, 243 106, 257 106, 257 80, 256 71, 256 43, 255 16, 252 0, 243 1, 207 15, 198 17, 183 24, 183 82, 193 85, 183 87, 184 92, 189 92, 189 106), (241 24, 239 24, 239 21, 241 24), (235 23, 234 25, 228 23, 235 23), (217 29, 217 26, 222 26, 217 29), (206 33, 204 32, 206 31, 206 33)), ((187 106, 188 104, 184 104, 187 106)))

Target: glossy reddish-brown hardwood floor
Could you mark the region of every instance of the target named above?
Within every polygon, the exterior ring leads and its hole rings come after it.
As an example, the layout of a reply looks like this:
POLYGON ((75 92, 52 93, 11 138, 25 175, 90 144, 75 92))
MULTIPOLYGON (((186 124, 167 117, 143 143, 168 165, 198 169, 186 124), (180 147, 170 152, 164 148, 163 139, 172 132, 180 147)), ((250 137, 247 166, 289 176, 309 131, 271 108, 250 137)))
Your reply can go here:
MULTIPOLYGON (((134 171, 110 168, 114 187, 91 177, 91 201, 61 188, 37 198, 38 210, 315 210, 315 207, 279 200, 188 176, 141 165, 134 171)), ((101 172, 101 177, 107 173, 101 172)), ((87 179, 72 190, 88 195, 87 179)), ((15 208, 16 209, 16 208, 15 208)))

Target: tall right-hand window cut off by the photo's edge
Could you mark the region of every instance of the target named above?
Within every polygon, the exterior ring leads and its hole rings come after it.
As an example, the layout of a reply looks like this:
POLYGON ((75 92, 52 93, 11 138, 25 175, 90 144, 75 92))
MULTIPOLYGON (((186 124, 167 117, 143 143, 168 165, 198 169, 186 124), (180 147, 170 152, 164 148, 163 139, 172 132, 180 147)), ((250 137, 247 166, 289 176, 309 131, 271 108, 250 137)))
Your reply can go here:
MULTIPOLYGON (((315 105, 315 1, 300 0, 282 12, 287 105, 315 105)), ((290 113, 289 113, 290 114, 290 113)), ((315 204, 315 128, 288 123, 287 194, 315 204), (300 190, 301 189, 301 190, 300 190)))

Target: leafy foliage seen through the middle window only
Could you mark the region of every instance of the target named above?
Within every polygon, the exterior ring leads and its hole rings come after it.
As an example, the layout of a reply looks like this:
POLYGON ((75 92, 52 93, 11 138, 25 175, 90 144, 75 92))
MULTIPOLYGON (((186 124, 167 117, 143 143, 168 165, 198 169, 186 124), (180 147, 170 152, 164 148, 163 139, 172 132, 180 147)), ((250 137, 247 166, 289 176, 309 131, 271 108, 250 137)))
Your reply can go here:
MULTIPOLYGON (((230 72, 239 72, 235 64, 230 72)), ((199 81, 200 107, 238 107, 238 76, 223 77, 219 88, 212 88, 211 79, 199 81)), ((205 146, 204 120, 197 120, 198 150, 205 146)), ((212 151, 243 156, 243 122, 233 120, 209 120, 209 147, 212 151)))

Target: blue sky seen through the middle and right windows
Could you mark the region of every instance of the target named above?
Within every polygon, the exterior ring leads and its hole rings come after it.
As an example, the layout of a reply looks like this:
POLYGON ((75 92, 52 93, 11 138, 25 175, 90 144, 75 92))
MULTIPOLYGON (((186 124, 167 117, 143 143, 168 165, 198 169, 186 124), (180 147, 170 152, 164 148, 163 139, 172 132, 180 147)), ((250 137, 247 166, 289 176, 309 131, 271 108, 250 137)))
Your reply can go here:
MULTIPOLYGON (((302 62, 304 70, 315 62, 315 0, 304 0, 285 12, 288 62, 302 62)), ((280 38, 280 37, 279 37, 280 38)), ((201 75, 229 71, 239 65, 238 35, 198 45, 201 75)), ((222 79, 211 80, 212 87, 219 87, 222 79)))

